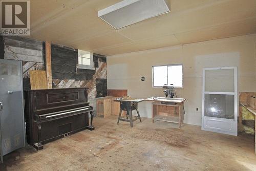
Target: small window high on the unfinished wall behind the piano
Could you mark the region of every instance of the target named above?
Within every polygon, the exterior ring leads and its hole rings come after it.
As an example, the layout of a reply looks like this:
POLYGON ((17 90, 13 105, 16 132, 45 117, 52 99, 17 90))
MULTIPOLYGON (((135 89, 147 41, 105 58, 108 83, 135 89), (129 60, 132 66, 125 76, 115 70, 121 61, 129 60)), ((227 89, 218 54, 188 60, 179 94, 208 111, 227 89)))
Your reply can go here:
POLYGON ((94 69, 93 67, 93 55, 91 52, 78 49, 78 66, 81 69, 94 69))

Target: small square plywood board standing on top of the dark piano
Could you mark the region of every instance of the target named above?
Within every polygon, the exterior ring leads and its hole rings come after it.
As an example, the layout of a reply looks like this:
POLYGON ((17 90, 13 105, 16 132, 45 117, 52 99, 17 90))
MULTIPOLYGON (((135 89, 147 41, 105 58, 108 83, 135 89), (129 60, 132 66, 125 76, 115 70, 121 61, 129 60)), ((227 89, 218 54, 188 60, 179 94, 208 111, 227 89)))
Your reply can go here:
POLYGON ((46 71, 29 71, 31 90, 47 89, 46 71))

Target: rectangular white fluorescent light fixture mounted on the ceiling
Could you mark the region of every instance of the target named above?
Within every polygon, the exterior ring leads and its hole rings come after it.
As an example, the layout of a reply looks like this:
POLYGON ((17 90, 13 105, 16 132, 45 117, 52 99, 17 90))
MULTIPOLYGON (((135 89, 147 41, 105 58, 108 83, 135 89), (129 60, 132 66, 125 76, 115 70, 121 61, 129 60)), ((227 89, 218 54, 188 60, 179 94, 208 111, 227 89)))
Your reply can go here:
POLYGON ((167 0, 124 0, 98 11, 98 17, 120 29, 167 12, 167 0))

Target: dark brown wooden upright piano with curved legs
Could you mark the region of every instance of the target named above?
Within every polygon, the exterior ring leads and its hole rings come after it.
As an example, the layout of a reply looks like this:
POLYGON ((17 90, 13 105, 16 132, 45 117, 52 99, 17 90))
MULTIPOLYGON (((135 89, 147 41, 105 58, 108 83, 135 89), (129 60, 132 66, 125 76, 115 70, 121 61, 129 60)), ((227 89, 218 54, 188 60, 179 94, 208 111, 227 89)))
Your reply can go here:
POLYGON ((27 143, 37 150, 47 142, 94 130, 87 88, 26 90, 24 99, 27 143))

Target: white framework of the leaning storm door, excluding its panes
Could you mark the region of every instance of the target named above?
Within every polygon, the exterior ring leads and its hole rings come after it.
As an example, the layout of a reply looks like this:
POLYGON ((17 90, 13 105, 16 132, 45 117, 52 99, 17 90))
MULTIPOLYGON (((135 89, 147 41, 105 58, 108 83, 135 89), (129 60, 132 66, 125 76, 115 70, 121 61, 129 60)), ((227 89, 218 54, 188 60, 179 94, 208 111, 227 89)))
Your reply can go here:
POLYGON ((203 69, 203 88, 202 88, 202 123, 201 123, 201 129, 204 131, 211 131, 211 132, 217 132, 222 134, 229 134, 229 135, 238 135, 238 77, 237 77, 237 67, 215 67, 215 68, 204 68, 203 69), (227 69, 233 69, 234 70, 234 92, 205 92, 205 71, 206 70, 227 70, 227 69), (204 116, 204 97, 205 94, 224 94, 224 95, 234 95, 234 119, 226 119, 226 118, 216 118, 216 117, 209 117, 204 116), (234 124, 234 132, 224 132, 218 129, 211 129, 211 128, 205 128, 204 127, 204 119, 211 119, 211 120, 219 120, 223 122, 233 122, 234 124))

